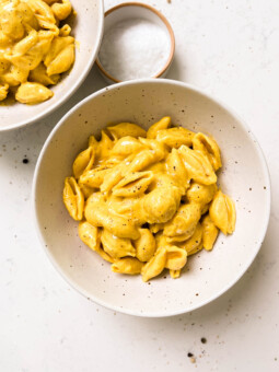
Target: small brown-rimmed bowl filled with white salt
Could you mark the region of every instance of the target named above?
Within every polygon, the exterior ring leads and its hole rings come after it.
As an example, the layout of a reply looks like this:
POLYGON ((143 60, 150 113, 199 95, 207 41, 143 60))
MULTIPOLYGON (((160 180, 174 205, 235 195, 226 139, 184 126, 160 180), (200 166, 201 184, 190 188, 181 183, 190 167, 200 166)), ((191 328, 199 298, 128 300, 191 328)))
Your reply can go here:
POLYGON ((163 78, 172 65, 174 49, 174 33, 162 13, 144 3, 125 2, 105 13, 96 65, 109 84, 163 78), (156 55, 159 58, 154 58, 156 55))

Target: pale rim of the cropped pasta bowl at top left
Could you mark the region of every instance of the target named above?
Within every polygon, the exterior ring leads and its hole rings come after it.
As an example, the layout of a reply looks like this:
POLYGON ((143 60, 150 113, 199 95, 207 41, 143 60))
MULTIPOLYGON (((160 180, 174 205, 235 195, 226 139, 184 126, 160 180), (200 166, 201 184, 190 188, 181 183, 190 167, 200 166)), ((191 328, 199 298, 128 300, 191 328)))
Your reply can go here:
MULTIPOLYGON (((83 81, 86 79, 88 74, 90 73, 94 61, 97 58, 97 54, 101 47, 101 43, 103 39, 103 33, 104 33, 104 0, 98 0, 100 2, 100 23, 98 23, 98 27, 97 27, 97 33, 96 33, 96 46, 94 49, 92 49, 91 53, 91 57, 88 61, 88 65, 85 66, 85 68, 82 70, 82 72, 80 73, 80 78, 75 80, 75 83, 73 83, 69 90, 65 90, 66 93, 65 95, 61 97, 61 100, 57 101, 53 106, 48 107, 47 109, 43 111, 42 113, 37 114, 36 116, 34 116, 31 119, 26 119, 20 123, 16 123, 12 126, 4 126, 4 127, 0 127, 0 132, 4 132, 4 131, 10 131, 10 130, 14 130, 14 129, 19 129, 25 126, 28 126, 31 124, 34 124, 35 121, 38 121, 43 118, 45 118, 46 116, 50 115, 51 113, 54 113, 58 107, 60 107, 66 101, 68 101, 73 93, 77 92, 77 90, 81 86, 81 84, 83 83, 83 81)), ((71 72, 69 72, 71 73, 71 72)))

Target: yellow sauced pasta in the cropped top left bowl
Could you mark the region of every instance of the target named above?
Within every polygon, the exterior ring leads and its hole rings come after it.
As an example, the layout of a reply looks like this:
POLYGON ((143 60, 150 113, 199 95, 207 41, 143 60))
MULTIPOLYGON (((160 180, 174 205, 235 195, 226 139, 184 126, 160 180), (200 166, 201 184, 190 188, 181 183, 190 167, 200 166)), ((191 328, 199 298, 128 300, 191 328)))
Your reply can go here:
POLYGON ((0 0, 0 101, 12 92, 24 104, 50 98, 47 86, 74 62, 69 0, 0 0))

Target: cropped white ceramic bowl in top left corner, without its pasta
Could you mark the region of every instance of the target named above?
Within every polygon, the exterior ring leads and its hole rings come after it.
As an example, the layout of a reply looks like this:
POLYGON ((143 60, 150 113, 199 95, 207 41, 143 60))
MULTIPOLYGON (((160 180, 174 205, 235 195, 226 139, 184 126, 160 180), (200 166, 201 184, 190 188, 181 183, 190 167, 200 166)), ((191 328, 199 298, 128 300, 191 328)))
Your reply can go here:
POLYGON ((90 72, 101 45, 104 27, 103 0, 71 0, 77 18, 71 24, 75 37, 75 62, 60 83, 50 88, 55 95, 38 105, 14 103, 0 106, 0 131, 23 127, 50 114, 66 102, 90 72))

